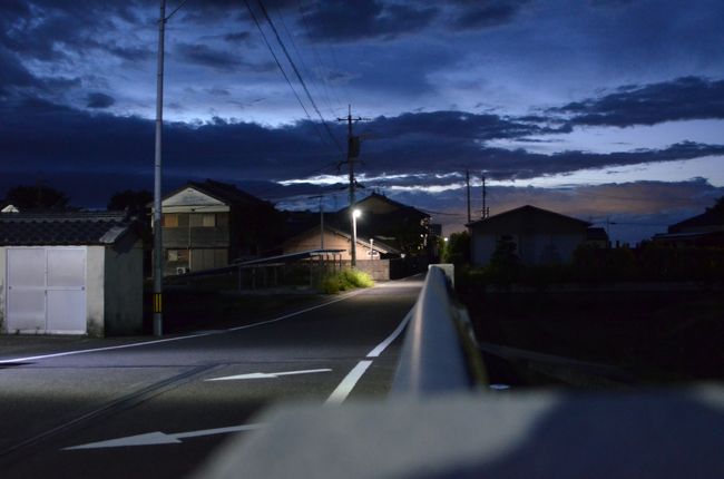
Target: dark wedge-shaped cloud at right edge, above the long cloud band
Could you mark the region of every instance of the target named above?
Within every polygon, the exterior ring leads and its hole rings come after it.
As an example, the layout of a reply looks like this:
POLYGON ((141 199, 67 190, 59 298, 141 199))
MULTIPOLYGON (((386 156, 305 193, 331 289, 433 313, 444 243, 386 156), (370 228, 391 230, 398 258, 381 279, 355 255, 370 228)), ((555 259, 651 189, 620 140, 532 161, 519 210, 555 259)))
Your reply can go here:
POLYGON ((573 125, 656 125, 664 121, 724 118, 724 80, 684 77, 644 86, 626 86, 600 98, 549 110, 570 116, 573 125))

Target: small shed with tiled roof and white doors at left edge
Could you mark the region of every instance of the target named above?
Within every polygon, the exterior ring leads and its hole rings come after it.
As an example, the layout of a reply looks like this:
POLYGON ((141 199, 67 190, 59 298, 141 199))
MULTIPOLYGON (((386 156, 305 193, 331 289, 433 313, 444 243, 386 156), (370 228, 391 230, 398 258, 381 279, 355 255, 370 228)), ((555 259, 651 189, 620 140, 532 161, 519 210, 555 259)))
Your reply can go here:
POLYGON ((0 214, 0 332, 130 334, 143 245, 125 213, 0 214))

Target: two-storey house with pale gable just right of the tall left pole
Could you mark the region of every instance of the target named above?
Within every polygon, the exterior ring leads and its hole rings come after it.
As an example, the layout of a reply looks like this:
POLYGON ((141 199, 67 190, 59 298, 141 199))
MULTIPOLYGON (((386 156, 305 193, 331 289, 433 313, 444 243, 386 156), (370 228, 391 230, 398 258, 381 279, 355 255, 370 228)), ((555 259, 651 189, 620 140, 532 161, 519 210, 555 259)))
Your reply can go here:
POLYGON ((226 183, 189 182, 163 198, 162 211, 165 275, 257 257, 281 238, 274 205, 226 183))

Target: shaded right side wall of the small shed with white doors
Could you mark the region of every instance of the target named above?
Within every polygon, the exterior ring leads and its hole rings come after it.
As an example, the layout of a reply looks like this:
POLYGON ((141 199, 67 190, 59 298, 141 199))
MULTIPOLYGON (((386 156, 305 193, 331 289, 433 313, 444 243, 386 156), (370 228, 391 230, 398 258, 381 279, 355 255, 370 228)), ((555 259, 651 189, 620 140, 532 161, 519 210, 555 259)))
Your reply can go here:
POLYGON ((140 332, 144 315, 143 245, 121 243, 106 247, 105 266, 105 333, 140 332))

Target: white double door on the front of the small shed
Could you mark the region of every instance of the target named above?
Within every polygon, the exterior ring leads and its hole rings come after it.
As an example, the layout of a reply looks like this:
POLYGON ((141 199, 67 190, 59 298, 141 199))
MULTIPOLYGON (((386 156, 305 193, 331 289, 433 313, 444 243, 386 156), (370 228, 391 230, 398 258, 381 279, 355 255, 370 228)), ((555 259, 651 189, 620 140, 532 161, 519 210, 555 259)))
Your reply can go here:
POLYGON ((8 248, 8 332, 86 333, 86 248, 8 248))

